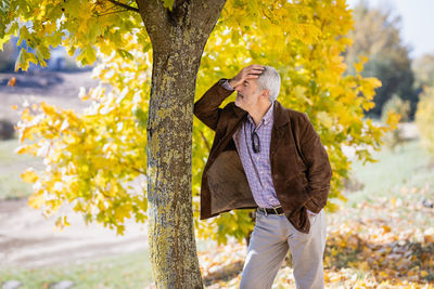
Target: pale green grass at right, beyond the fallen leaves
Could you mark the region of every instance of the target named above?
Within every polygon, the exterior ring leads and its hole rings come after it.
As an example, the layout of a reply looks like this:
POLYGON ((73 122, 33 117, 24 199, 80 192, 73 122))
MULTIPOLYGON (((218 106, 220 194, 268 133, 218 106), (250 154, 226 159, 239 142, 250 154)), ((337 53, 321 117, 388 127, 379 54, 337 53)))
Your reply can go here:
MULTIPOLYGON (((365 167, 360 161, 354 162, 355 178, 363 184, 363 188, 346 193, 348 201, 341 202, 341 206, 357 208, 363 200, 368 203, 391 203, 396 207, 395 213, 399 218, 414 225, 434 226, 434 220, 414 213, 414 207, 421 206, 423 199, 434 201, 434 158, 421 147, 420 141, 405 143, 396 152, 375 152, 374 158, 379 161, 365 167)), ((365 208, 362 213, 371 215, 374 210, 365 208)))

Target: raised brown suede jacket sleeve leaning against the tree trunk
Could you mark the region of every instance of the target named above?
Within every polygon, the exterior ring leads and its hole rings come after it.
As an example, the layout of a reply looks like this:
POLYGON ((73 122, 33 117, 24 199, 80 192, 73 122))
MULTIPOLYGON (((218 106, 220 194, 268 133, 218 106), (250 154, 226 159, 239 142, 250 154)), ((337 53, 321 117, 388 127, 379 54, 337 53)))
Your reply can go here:
POLYGON ((219 108, 220 104, 234 91, 222 87, 226 80, 227 78, 218 80, 194 103, 193 114, 213 131, 217 129, 222 110, 222 108, 219 108))

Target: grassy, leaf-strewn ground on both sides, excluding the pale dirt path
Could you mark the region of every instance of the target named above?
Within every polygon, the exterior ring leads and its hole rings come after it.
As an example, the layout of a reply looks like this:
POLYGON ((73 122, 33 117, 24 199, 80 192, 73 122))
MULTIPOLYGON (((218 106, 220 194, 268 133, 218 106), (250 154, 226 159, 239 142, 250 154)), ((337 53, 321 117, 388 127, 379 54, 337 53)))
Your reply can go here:
MULTIPOLYGON (((0 146, 2 159, 12 158, 3 153, 7 145, 0 146)), ((429 285, 434 283, 434 209, 422 205, 424 198, 434 200, 434 166, 419 141, 406 143, 398 152, 376 153, 374 158, 380 161, 354 163, 355 178, 365 187, 345 193, 348 201, 328 215, 327 286, 434 288, 429 285)), ((207 288, 237 288, 245 245, 203 248, 208 246, 200 241, 207 288)), ((0 276, 0 281, 17 279, 29 286, 23 288, 43 288, 63 279, 75 281, 76 288, 142 288, 152 281, 145 251, 80 265, 10 270, 0 276)), ((275 288, 295 288, 290 266, 282 266, 275 288)))

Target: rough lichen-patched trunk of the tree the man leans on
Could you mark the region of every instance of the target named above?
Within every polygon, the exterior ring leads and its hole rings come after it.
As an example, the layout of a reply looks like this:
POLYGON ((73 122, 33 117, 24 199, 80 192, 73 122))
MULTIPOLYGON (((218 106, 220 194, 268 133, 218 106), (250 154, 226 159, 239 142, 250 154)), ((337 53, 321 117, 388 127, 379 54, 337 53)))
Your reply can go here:
POLYGON ((157 288, 203 288, 192 212, 192 129, 201 56, 226 0, 137 0, 153 47, 148 119, 149 245, 157 288))

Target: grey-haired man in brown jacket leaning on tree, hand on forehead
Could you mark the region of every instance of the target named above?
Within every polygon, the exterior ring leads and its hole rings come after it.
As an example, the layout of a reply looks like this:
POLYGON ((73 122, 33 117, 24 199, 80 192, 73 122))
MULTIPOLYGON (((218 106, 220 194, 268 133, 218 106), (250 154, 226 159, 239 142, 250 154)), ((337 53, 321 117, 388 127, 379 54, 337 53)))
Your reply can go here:
POLYGON ((215 131, 202 175, 201 220, 257 209, 240 288, 271 288, 288 253, 297 288, 323 288, 326 212, 332 169, 306 114, 276 98, 280 76, 263 65, 217 81, 194 104, 215 131), (220 104, 233 91, 235 102, 220 104))

